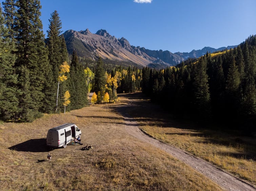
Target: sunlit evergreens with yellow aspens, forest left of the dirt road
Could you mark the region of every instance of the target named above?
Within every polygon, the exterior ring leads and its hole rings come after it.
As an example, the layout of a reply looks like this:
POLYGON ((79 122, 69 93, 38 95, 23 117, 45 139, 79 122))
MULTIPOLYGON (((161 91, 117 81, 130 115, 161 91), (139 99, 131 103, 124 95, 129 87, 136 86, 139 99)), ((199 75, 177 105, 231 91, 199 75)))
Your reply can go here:
POLYGON ((47 38, 39 0, 5 0, 0 5, 0 120, 33 121, 44 113, 60 113, 97 103, 113 102, 117 92, 140 90, 141 70, 114 67, 99 58, 68 55, 55 10, 47 38))

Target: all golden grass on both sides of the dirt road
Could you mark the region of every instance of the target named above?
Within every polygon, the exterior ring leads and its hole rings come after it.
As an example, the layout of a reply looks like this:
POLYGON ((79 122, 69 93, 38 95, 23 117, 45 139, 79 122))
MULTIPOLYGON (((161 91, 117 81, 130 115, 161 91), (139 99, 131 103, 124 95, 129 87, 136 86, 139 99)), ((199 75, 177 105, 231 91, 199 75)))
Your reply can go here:
POLYGON ((120 98, 117 103, 46 114, 32 123, 1 123, 0 190, 221 190, 170 154, 128 134, 123 117, 115 110, 119 105, 148 134, 211 162, 216 158, 225 169, 236 166, 247 174, 239 171, 239 176, 255 183, 255 158, 244 154, 250 151, 255 156, 255 150, 245 150, 253 148, 247 143, 255 146, 255 140, 233 137, 240 140, 237 146, 227 137, 221 144, 218 132, 203 132, 190 128, 190 124, 174 122, 140 93, 122 94, 120 98), (140 105, 129 105, 130 98, 138 99, 140 105), (66 122, 75 123, 82 131, 81 142, 92 144, 93 149, 84 151, 81 145, 48 148, 48 129, 66 122), (210 150, 213 146, 216 149, 210 150), (221 150, 224 147, 226 150, 221 150), (46 160, 48 152, 52 161, 46 160), (240 155, 234 155, 236 152, 240 155))

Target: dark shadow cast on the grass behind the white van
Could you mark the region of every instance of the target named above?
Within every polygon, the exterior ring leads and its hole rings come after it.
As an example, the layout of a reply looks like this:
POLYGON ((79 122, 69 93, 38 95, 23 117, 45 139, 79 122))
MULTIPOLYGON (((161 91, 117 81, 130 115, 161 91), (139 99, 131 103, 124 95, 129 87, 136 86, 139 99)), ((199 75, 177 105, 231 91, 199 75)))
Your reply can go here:
POLYGON ((23 143, 11 146, 8 149, 23 152, 49 152, 53 150, 46 145, 46 138, 30 139, 23 143))

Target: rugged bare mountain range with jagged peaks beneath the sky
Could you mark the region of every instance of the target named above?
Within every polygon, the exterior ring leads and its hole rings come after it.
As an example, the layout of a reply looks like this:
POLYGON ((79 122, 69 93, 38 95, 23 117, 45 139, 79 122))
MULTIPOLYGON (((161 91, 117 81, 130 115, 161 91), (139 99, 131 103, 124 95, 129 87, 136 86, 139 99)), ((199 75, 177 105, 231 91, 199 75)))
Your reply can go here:
POLYGON ((188 58, 200 57, 206 52, 216 52, 236 46, 221 47, 218 49, 204 47, 201 50, 191 52, 172 53, 168 50, 149 50, 144 47, 135 47, 125 39, 117 39, 106 30, 98 30, 96 34, 88 29, 81 31, 67 30, 64 32, 67 51, 72 54, 75 50, 78 56, 97 59, 110 59, 119 62, 136 63, 142 67, 165 68, 175 66, 188 58))

